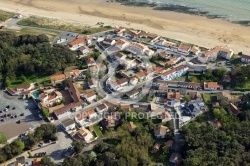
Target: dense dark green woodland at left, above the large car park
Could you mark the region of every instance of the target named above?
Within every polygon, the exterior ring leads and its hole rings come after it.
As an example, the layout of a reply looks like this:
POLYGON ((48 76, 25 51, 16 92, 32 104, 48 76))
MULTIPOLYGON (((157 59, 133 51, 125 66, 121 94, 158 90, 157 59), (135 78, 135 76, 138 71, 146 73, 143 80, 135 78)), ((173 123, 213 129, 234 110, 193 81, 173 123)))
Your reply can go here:
POLYGON ((46 35, 0 32, 0 50, 0 72, 6 86, 44 82, 76 62, 74 52, 51 47, 46 35))

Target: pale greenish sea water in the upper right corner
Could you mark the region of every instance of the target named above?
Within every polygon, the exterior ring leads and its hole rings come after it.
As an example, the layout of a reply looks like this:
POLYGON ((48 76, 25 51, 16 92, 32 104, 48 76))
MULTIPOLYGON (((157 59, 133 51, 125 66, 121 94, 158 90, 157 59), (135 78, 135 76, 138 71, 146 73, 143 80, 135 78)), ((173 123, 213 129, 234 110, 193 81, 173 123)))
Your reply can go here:
MULTIPOLYGON (((142 1, 142 0, 141 0, 142 1)), ((250 0, 150 0, 158 5, 182 5, 230 21, 250 21, 250 0)))

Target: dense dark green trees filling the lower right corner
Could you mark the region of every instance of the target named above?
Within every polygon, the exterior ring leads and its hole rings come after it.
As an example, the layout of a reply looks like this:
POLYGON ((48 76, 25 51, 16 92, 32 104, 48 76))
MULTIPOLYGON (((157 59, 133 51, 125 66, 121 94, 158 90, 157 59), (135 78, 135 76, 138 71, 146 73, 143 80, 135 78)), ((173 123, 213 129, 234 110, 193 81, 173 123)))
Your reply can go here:
POLYGON ((238 117, 216 109, 214 117, 222 127, 210 123, 191 122, 181 129, 184 165, 247 165, 250 162, 250 111, 242 111, 238 117))

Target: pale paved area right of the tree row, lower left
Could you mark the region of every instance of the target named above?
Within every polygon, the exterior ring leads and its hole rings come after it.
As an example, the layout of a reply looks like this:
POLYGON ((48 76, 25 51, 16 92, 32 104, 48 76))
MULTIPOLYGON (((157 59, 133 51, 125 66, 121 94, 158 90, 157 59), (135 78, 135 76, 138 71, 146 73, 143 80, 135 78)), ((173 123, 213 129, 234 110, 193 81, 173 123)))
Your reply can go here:
POLYGON ((56 141, 55 144, 43 143, 42 147, 35 147, 31 151, 31 154, 35 155, 37 153, 46 152, 54 162, 62 162, 69 153, 67 149, 71 146, 72 139, 61 129, 60 125, 57 127, 56 135, 58 137, 58 141, 56 141))

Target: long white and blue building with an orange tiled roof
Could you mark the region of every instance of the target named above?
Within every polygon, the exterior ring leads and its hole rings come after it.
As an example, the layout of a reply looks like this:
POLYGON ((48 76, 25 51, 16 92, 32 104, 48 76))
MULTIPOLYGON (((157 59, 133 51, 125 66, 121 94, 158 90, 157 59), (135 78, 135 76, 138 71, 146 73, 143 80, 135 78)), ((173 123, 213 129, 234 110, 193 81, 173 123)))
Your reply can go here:
POLYGON ((187 71, 188 71, 188 67, 181 65, 161 74, 161 78, 163 80, 172 80, 174 78, 181 77, 182 75, 186 74, 187 71))

